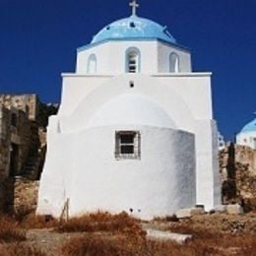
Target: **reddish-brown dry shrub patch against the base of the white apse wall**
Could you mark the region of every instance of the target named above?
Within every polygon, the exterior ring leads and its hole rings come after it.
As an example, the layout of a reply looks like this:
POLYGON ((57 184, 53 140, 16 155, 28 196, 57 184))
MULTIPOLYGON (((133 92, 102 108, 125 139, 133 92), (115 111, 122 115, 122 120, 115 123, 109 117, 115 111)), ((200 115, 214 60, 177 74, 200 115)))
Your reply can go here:
POLYGON ((144 234, 139 221, 129 217, 124 212, 118 215, 101 212, 85 215, 60 224, 56 230, 60 232, 106 231, 144 234))

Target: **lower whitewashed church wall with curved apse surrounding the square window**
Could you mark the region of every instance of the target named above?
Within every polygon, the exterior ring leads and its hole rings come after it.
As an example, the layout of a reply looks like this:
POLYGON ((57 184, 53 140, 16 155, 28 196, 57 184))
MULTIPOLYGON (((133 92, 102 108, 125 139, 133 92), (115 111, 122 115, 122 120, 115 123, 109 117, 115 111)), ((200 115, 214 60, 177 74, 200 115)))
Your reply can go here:
POLYGON ((54 141, 54 149, 49 148, 48 155, 53 150, 72 154, 64 154, 63 166, 59 165, 60 156, 48 159, 37 214, 48 211, 59 217, 58 206, 64 205, 66 198, 70 199, 71 216, 97 210, 130 213, 133 209, 134 216, 145 220, 196 204, 195 144, 191 134, 167 128, 115 125, 61 137, 54 141), (141 160, 115 159, 116 130, 141 132, 141 160), (56 181, 53 177, 58 175, 64 180, 56 181))

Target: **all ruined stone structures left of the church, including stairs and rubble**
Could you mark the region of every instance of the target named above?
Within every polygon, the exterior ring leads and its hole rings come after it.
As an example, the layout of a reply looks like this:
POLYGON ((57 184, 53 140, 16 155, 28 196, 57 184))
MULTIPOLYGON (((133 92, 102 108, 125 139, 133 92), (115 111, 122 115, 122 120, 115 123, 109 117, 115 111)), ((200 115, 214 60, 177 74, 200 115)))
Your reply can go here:
POLYGON ((48 116, 56 111, 36 95, 0 95, 0 211, 35 209, 48 116))

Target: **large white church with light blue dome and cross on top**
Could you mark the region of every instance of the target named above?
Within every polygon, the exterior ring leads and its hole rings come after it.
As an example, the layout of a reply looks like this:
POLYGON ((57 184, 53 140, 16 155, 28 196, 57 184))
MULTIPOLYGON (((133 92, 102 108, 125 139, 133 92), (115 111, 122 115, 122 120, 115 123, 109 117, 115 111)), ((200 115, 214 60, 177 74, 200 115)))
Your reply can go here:
POLYGON ((78 48, 51 116, 38 215, 125 211, 150 220, 221 204, 211 73, 166 27, 132 15, 78 48))

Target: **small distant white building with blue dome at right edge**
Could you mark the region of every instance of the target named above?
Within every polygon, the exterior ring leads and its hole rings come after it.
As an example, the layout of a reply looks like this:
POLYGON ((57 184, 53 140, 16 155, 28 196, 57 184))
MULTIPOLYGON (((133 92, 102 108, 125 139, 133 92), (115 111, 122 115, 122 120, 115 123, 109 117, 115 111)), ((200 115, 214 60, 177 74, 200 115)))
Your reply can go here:
POLYGON ((256 118, 246 124, 236 135, 236 143, 256 150, 256 118))

